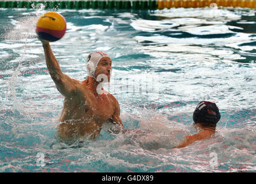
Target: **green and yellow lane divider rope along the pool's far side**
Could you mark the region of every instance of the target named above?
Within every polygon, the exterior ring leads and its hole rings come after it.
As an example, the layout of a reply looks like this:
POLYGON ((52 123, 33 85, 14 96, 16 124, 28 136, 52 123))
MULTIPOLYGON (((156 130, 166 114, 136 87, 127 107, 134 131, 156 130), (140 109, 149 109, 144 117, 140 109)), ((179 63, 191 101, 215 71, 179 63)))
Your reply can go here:
POLYGON ((87 0, 87 1, 0 1, 3 8, 37 7, 39 3, 45 9, 169 9, 171 7, 210 7, 230 6, 256 9, 256 0, 87 0))

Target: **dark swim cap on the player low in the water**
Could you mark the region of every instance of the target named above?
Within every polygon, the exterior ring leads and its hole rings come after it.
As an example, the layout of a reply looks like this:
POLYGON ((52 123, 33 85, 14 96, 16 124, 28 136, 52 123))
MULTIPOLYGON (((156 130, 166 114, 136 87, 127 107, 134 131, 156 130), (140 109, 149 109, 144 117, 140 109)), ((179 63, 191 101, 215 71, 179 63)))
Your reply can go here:
POLYGON ((193 120, 196 123, 200 122, 203 125, 216 127, 218 120, 220 120, 220 112, 218 107, 213 102, 201 101, 195 108, 193 113, 193 120))

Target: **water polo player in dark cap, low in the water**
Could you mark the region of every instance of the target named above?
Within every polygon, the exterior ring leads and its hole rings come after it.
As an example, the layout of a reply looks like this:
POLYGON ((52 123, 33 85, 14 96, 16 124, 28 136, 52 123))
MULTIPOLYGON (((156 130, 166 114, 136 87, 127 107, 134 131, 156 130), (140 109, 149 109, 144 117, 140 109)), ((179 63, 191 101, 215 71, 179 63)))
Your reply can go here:
POLYGON ((220 120, 220 112, 213 102, 201 101, 193 113, 195 135, 185 136, 183 142, 173 148, 183 148, 198 140, 208 139, 214 135, 217 122, 220 120))

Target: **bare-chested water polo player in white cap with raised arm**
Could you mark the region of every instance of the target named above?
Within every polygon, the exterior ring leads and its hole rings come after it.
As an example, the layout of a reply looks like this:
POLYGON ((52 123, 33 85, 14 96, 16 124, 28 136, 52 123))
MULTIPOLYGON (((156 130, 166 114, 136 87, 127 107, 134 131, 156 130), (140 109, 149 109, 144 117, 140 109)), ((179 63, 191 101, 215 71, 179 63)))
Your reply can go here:
POLYGON ((42 39, 39 40, 43 44, 51 78, 58 91, 65 97, 61 123, 57 127, 58 137, 94 139, 101 132, 102 124, 107 121, 117 125, 114 133, 126 132, 127 129, 124 129, 120 120, 120 106, 117 99, 99 87, 102 79, 110 81, 112 70, 110 57, 103 52, 90 53, 87 57, 88 76, 84 81, 77 81, 61 71, 50 44, 42 39))

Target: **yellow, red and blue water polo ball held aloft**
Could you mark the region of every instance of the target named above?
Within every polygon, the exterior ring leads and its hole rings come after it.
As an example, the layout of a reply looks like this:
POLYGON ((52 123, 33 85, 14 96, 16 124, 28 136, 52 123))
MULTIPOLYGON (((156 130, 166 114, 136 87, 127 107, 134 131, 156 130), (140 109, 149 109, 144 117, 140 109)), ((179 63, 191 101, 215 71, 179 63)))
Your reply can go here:
POLYGON ((36 33, 45 41, 60 40, 66 32, 66 20, 61 14, 48 12, 43 14, 36 24, 36 33))

